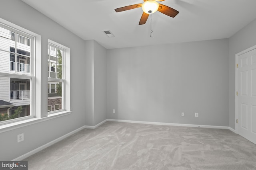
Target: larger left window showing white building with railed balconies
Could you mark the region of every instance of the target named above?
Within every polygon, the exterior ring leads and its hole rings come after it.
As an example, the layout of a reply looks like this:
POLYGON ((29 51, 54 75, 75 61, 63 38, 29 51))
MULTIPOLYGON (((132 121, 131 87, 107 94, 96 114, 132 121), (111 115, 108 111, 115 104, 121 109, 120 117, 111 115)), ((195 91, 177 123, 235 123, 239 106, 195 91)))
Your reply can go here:
POLYGON ((32 117, 34 37, 0 23, 0 124, 32 117))

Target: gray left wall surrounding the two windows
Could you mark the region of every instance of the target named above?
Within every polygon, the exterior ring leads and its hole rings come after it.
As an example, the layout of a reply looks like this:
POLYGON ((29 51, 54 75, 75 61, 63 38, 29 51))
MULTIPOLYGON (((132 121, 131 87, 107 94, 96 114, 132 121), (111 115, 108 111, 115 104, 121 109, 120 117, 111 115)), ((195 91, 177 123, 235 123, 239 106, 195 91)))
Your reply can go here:
POLYGON ((82 39, 20 0, 1 0, 0 18, 42 36, 42 113, 47 114, 48 39, 69 47, 71 58, 70 107, 73 112, 70 115, 0 133, 0 160, 12 160, 85 125, 84 119, 87 113, 84 105, 86 102, 84 86, 86 84, 85 78, 82 78, 82 74, 78 76, 78 72, 81 72, 81 68, 84 68, 86 63, 84 57, 86 49, 82 39), (20 133, 24 133, 24 141, 17 143, 17 135, 20 133))

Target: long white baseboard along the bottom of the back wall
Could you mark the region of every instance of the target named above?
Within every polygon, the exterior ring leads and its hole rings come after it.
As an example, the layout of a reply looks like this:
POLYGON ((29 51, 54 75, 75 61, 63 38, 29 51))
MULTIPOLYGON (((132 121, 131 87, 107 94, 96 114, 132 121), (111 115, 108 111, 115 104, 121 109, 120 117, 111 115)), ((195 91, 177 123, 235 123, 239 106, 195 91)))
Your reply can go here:
POLYGON ((228 126, 192 125, 192 124, 180 124, 180 123, 162 123, 162 122, 151 122, 151 121, 131 121, 131 120, 117 120, 117 119, 106 119, 106 120, 107 121, 116 121, 116 122, 125 122, 125 123, 142 123, 142 124, 150 124, 150 125, 204 127, 204 128, 213 128, 213 129, 230 129, 230 127, 228 127, 228 126))

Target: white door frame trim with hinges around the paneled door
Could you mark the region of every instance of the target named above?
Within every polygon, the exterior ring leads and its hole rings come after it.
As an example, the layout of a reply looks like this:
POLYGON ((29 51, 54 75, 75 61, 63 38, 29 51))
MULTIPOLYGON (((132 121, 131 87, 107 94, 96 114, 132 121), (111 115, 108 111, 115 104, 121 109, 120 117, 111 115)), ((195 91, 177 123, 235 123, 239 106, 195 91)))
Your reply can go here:
MULTIPOLYGON (((236 96, 236 92, 238 92, 238 89, 237 89, 237 64, 238 64, 238 57, 240 56, 240 55, 243 55, 244 53, 247 53, 247 52, 249 52, 249 51, 252 51, 252 50, 254 50, 254 49, 256 49, 256 45, 254 45, 254 46, 252 46, 252 47, 250 47, 250 48, 248 48, 248 49, 245 49, 244 51, 241 51, 240 53, 237 53, 236 54, 236 64, 235 64, 235 69, 236 69, 236 73, 235 73, 235 132, 236 133, 238 133, 238 131, 237 131, 237 127, 238 127, 238 125, 237 125, 237 123, 236 123, 236 119, 238 119, 238 110, 237 110, 237 96, 236 96)), ((240 119, 239 119, 240 120, 240 119)))

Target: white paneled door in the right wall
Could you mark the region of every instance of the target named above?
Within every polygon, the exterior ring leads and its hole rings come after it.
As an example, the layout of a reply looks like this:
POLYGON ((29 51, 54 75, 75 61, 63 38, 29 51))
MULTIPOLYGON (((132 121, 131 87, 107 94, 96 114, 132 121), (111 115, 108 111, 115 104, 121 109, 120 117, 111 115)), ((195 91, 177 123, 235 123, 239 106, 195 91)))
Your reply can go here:
POLYGON ((236 132, 256 144, 256 46, 236 61, 236 132))

